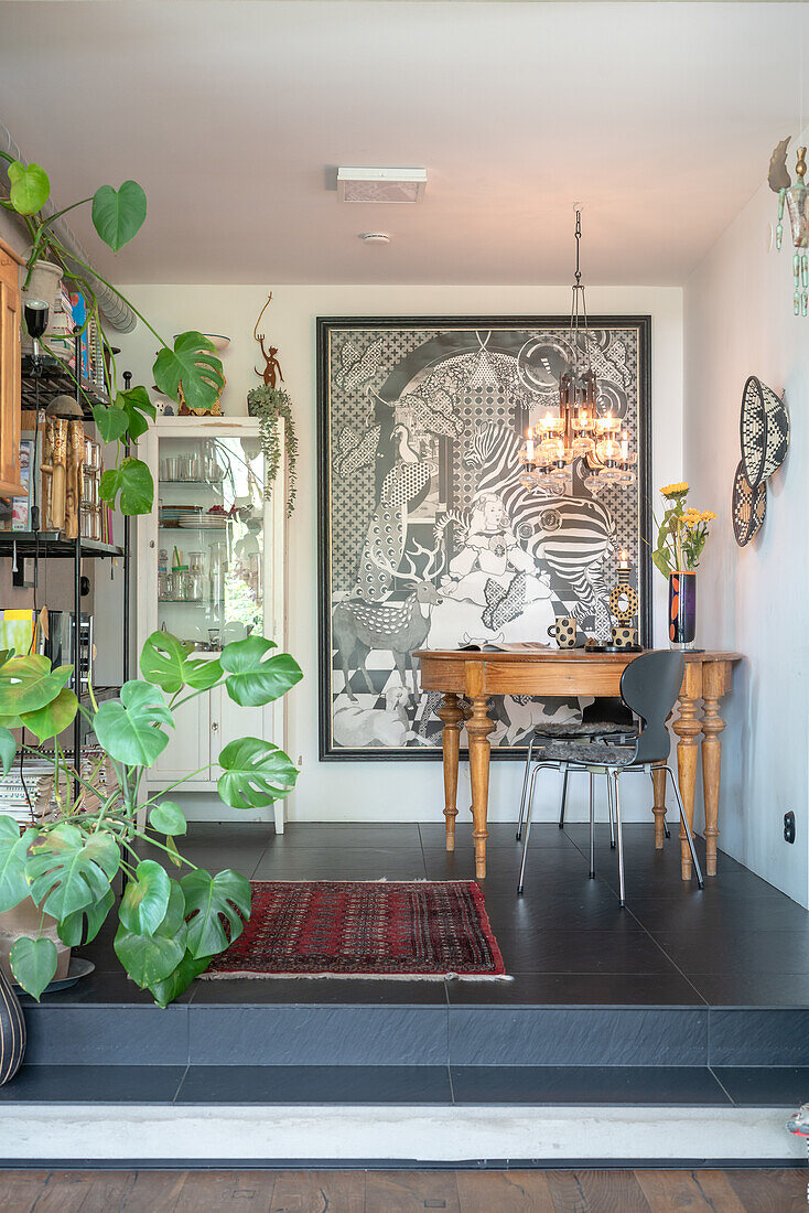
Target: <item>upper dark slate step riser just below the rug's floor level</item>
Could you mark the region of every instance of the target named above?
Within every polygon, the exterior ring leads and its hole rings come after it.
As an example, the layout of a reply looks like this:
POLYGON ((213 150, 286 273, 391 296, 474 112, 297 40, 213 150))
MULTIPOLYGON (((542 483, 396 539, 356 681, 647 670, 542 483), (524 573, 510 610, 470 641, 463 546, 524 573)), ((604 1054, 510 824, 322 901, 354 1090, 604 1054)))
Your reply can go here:
MULTIPOLYGON (((552 975, 551 975, 552 976, 552 975)), ((536 990, 547 974, 523 975, 536 990), (534 986, 536 983, 536 986, 534 986)), ((582 983, 617 975, 559 974, 556 1004, 484 1001, 483 986, 425 983, 425 1001, 340 1000, 27 1004, 28 1061, 39 1065, 676 1065, 809 1066, 809 1010, 689 1004, 576 1006, 582 983), (568 983, 565 987, 565 981, 568 983), (560 997, 565 995, 565 997, 560 997), (433 1001, 434 1000, 434 1001, 433 1001)), ((655 981, 638 976, 649 997, 655 981)), ((297 983, 280 985, 286 997, 297 983)), ((313 983, 317 984, 317 983, 313 983)), ((368 983, 371 985, 372 983, 368 983)), ((213 984, 212 984, 213 985, 213 984)), ((252 985, 252 983, 243 983, 252 985)), ((334 983, 336 986, 337 983, 334 983)), ((391 984, 387 984, 391 985, 391 984)), ((517 986, 517 983, 514 983, 517 986)), ((525 985, 523 986, 525 991, 525 985)), ((233 992, 233 991, 232 991, 233 992)), ((661 993, 663 991, 661 990, 661 993)), ((243 990, 244 996, 244 990, 243 990)), ((215 997, 211 995, 211 997, 215 997)))

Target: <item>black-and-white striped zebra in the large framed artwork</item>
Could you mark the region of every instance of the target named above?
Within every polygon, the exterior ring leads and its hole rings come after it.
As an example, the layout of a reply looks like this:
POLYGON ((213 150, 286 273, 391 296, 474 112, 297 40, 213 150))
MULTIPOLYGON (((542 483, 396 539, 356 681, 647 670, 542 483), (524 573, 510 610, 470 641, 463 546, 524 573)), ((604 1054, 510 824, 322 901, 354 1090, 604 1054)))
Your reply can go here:
POLYGON ((593 615, 596 634, 606 638, 611 620, 604 573, 615 552, 615 520, 592 497, 526 489, 520 482, 519 442, 502 422, 478 422, 463 452, 466 466, 479 468, 477 495, 498 495, 525 549, 576 592, 576 619, 593 615))

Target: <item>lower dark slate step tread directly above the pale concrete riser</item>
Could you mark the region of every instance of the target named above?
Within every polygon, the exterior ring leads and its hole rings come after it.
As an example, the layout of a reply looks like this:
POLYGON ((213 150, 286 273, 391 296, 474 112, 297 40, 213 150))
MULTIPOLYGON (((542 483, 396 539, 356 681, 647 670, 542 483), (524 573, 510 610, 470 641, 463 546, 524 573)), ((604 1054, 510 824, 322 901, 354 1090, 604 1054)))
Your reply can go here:
POLYGON ((25 1065, 5 1104, 792 1107, 804 1067, 25 1065))

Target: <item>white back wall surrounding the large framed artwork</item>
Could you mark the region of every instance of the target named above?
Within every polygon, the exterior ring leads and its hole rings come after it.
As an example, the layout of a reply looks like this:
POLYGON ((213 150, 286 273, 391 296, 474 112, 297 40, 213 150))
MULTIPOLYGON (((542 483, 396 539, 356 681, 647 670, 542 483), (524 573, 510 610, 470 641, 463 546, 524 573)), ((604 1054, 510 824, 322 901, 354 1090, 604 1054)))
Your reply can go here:
MULTIPOLYGON (((374 252, 383 250, 374 250, 374 252)), ((224 355, 227 388, 223 411, 246 412, 246 393, 257 383, 252 340, 256 317, 267 297, 264 286, 132 286, 121 287, 164 336, 184 329, 223 332, 232 343, 224 355)), ((443 809, 440 764, 318 762, 317 633, 317 500, 315 500, 315 317, 318 315, 540 315, 564 314, 570 287, 420 287, 420 286, 280 286, 262 320, 278 346, 285 387, 295 404, 301 444, 298 497, 289 531, 289 648, 304 680, 289 696, 292 758, 303 758, 298 790, 289 803, 290 819, 439 820, 443 809), (392 790, 395 796, 392 797, 392 790)), ((682 291, 678 287, 592 287, 591 314, 653 317, 653 483, 682 474, 682 291)), ((119 368, 131 366, 135 382, 150 383, 154 338, 138 324, 121 337, 119 368)), ((665 585, 656 579, 655 628, 665 642, 665 585)), ((519 802, 522 768, 492 763, 491 820, 512 820, 519 802)), ((575 785, 579 781, 574 781, 575 785)), ((586 782, 581 780, 581 782, 586 782)), ((638 785, 642 781, 637 781, 638 785)), ((645 784, 645 781, 644 781, 645 784)), ((582 788, 583 793, 583 788, 582 788)), ((629 788, 627 788, 628 798, 629 788)), ((650 799, 636 792, 627 819, 649 820, 650 799)), ((468 775, 461 776, 458 804, 469 804, 468 775)), ((539 797, 537 797, 539 809, 539 797)), ((571 816, 585 811, 583 797, 571 816)), ((605 811, 605 809, 604 809, 605 811)), ((556 792, 542 815, 556 813, 556 792)))

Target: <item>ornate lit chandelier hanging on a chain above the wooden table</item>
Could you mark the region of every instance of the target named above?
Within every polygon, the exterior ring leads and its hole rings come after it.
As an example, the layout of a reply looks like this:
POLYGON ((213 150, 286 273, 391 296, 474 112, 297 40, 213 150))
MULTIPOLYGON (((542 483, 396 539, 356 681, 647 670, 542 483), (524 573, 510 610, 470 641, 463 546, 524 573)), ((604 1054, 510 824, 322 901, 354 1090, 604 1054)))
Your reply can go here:
POLYGON ((628 434, 613 411, 599 416, 596 374, 589 360, 587 301, 581 281, 581 211, 576 210, 576 273, 570 307, 570 363, 559 375, 559 411, 545 417, 525 434, 519 452, 525 488, 564 492, 568 468, 581 460, 585 485, 596 494, 606 485, 636 483, 628 434))

